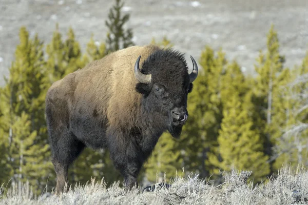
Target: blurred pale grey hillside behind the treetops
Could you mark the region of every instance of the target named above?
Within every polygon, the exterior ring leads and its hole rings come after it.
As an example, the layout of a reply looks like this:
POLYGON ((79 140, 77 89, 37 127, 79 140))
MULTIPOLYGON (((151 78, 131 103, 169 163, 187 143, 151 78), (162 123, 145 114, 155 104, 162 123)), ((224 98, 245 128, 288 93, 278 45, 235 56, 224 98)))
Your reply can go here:
MULTIPOLYGON (((71 26, 84 49, 91 33, 106 37, 105 20, 114 1, 106 0, 0 0, 0 73, 8 68, 19 43, 18 31, 26 26, 49 43, 55 23, 65 35, 71 26)), ((253 72, 260 49, 266 48, 266 33, 275 25, 286 66, 299 65, 308 50, 307 0, 127 0, 128 26, 134 42, 148 44, 152 37, 167 35, 175 48, 198 59, 206 45, 220 47, 227 58, 237 59, 243 71, 253 72)), ((4 85, 0 78, 0 86, 4 85)))

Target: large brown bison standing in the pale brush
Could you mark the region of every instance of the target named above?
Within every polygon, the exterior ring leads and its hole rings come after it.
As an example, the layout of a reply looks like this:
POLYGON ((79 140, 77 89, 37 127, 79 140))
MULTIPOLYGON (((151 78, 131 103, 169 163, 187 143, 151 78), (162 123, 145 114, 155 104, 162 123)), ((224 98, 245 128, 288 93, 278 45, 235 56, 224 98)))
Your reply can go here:
POLYGON ((52 84, 46 120, 56 193, 85 147, 106 148, 124 186, 137 176, 163 132, 179 138, 188 117, 187 95, 197 78, 184 54, 158 46, 132 46, 92 61, 52 84))

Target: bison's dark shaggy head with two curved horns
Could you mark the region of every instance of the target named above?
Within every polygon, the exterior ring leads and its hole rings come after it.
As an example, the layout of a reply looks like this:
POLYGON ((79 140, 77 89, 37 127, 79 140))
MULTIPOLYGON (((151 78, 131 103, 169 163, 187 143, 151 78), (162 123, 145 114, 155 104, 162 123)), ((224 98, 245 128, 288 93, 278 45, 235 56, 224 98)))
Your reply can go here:
POLYGON ((136 61, 134 73, 139 81, 136 90, 144 96, 142 105, 149 117, 155 116, 153 120, 159 127, 179 138, 188 118, 187 95, 198 76, 197 63, 190 56, 193 69, 188 73, 183 54, 171 49, 159 50, 143 62, 141 71, 140 58, 136 61))

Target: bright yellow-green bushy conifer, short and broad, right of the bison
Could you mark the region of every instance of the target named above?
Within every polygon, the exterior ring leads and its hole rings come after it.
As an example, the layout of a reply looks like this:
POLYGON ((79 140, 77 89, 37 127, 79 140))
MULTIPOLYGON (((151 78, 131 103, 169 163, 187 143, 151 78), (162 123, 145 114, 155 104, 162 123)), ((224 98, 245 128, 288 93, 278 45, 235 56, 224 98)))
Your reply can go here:
POLYGON ((219 131, 219 154, 222 161, 217 160, 217 167, 230 171, 253 171, 254 182, 259 182, 269 173, 266 162, 268 156, 263 153, 263 145, 258 132, 253 127, 249 110, 244 109, 244 103, 237 95, 230 95, 224 106, 224 118, 219 131))

